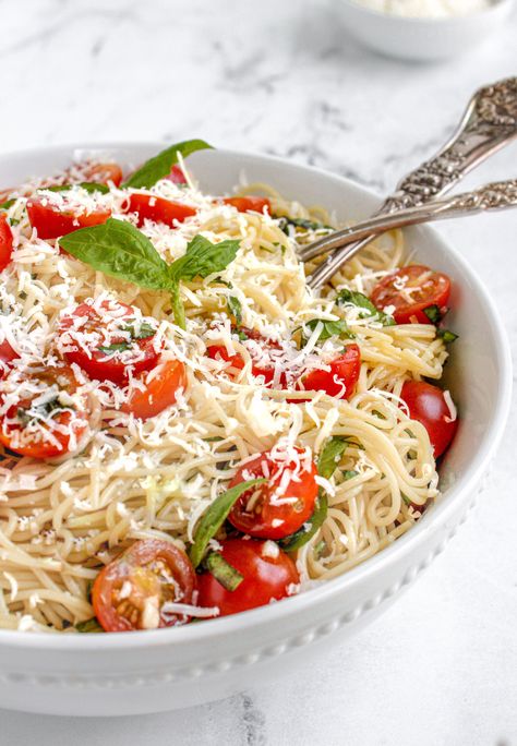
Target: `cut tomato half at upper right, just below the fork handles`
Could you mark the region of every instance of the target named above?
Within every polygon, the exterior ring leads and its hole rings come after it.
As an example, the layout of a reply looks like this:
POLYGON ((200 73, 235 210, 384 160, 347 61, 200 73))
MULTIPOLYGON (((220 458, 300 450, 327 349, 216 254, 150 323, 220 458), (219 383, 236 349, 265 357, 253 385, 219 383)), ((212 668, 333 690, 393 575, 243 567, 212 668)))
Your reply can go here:
POLYGON ((433 272, 423 265, 402 267, 387 275, 373 288, 372 302, 383 311, 395 305, 397 324, 432 324, 424 310, 437 305, 444 313, 450 296, 450 280, 447 275, 433 272))

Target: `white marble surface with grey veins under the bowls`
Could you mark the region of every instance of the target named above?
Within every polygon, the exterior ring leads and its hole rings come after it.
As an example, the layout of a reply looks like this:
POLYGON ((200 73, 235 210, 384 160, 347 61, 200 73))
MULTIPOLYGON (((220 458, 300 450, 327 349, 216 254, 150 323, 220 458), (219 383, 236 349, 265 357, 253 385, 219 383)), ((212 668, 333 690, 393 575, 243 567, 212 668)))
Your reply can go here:
MULTIPOLYGON (((515 17, 473 56, 426 67, 363 50, 338 10, 339 0, 0 1, 0 149, 203 136, 385 192, 444 141, 476 87, 516 73, 515 17)), ((516 164, 514 145, 469 181, 515 177, 516 164)), ((517 350, 516 214, 442 230, 484 276, 517 350)), ((445 555, 317 665, 168 714, 0 711, 0 744, 517 744, 516 418, 514 399, 491 486, 445 555)))

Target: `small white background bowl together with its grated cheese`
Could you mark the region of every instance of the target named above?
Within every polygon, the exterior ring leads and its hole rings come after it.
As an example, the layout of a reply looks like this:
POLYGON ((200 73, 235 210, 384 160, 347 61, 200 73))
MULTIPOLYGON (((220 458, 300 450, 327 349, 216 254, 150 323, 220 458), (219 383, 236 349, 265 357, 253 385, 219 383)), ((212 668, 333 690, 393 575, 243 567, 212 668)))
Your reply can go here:
POLYGON ((407 60, 444 60, 478 49, 515 0, 340 0, 347 29, 365 46, 407 60))

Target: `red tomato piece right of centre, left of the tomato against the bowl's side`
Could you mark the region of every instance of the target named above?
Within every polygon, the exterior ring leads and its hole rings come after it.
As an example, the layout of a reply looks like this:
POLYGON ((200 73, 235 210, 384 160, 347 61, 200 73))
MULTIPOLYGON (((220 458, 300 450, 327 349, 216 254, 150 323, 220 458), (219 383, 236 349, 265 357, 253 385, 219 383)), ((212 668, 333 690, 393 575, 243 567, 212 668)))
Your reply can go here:
MULTIPOLYGON (((357 345, 347 345, 342 354, 328 363, 330 370, 313 370, 301 377, 299 387, 310 392, 325 392, 338 399, 349 399, 361 371, 361 350, 357 345)), ((305 399, 291 399, 304 401, 305 399)))

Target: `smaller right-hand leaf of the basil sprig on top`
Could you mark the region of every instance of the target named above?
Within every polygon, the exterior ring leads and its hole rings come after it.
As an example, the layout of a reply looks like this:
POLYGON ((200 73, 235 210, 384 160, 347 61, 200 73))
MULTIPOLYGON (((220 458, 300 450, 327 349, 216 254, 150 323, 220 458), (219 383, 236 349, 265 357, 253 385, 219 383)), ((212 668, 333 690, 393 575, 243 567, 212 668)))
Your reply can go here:
POLYGON ((239 241, 212 243, 204 236, 194 236, 183 256, 169 265, 169 277, 172 281, 192 280, 223 272, 236 258, 239 246, 239 241))

